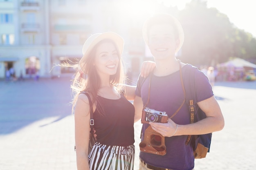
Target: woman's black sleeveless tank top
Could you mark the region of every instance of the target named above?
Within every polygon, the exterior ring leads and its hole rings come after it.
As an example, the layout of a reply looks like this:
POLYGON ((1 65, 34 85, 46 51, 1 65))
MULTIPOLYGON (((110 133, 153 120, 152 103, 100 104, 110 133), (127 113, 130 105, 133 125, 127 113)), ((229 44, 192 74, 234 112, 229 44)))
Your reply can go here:
POLYGON ((97 134, 97 141, 110 146, 129 146, 134 144, 134 106, 121 95, 120 99, 106 99, 98 96, 101 102, 104 115, 95 110, 94 129, 97 134))

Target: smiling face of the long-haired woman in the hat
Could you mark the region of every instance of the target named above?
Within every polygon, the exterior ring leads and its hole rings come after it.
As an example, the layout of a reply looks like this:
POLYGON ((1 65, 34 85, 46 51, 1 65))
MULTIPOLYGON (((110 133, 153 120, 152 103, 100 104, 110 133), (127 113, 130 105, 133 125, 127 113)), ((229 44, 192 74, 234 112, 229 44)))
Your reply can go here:
POLYGON ((118 51, 112 42, 103 42, 96 49, 94 66, 99 75, 114 75, 119 64, 118 51))

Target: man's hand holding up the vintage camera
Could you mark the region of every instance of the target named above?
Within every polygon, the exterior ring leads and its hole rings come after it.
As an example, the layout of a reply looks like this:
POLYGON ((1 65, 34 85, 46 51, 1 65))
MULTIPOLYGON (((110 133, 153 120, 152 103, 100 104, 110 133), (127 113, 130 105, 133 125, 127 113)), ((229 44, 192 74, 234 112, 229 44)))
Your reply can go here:
POLYGON ((159 132, 164 137, 174 136, 177 132, 177 125, 170 118, 167 123, 149 122, 149 124, 153 130, 159 132))

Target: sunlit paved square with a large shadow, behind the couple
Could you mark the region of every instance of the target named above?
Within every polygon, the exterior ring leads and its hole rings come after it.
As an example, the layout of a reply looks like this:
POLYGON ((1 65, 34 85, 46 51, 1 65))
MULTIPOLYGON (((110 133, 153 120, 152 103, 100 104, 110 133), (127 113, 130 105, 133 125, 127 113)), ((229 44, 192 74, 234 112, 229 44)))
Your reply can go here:
MULTIPOLYGON (((75 170, 67 78, 0 82, 0 170, 75 170)), ((216 83, 225 128, 195 170, 256 170, 256 82, 216 83)), ((140 122, 135 124, 138 168, 140 122)))

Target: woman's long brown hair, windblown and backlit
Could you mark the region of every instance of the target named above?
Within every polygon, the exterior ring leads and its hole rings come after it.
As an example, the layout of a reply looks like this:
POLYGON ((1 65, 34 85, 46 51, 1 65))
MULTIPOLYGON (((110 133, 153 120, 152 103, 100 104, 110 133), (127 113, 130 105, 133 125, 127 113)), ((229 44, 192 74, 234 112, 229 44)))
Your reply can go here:
MULTIPOLYGON (((76 101, 78 99, 78 95, 81 93, 81 91, 87 91, 90 94, 90 97, 92 99, 92 105, 93 104, 99 105, 98 107, 99 113, 103 114, 103 110, 101 109, 101 103, 97 101, 97 94, 101 86, 101 79, 97 74, 96 68, 93 66, 93 62, 94 62, 94 58, 95 58, 98 46, 105 42, 111 42, 112 44, 114 44, 116 50, 118 51, 115 42, 111 39, 102 40, 93 47, 90 54, 86 57, 85 62, 81 64, 81 67, 82 67, 80 68, 81 70, 75 73, 74 79, 72 80, 71 88, 74 96, 72 99, 73 113, 74 113, 76 101)), ((118 57, 119 57, 119 64, 117 66, 117 73, 115 75, 110 75, 109 83, 110 85, 114 86, 119 93, 121 93, 121 91, 123 90, 122 84, 124 84, 125 82, 125 75, 124 75, 124 67, 122 64, 120 51, 118 51, 118 57)))

